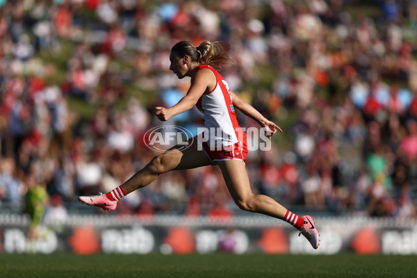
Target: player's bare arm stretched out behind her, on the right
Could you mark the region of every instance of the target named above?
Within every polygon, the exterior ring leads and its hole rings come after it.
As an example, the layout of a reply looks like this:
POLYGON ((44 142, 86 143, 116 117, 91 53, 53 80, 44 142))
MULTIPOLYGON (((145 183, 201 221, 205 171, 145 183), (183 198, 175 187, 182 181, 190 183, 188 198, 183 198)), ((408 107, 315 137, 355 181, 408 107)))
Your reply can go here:
POLYGON ((243 114, 247 115, 248 117, 252 117, 252 119, 258 122, 259 125, 261 125, 262 127, 269 129, 269 131, 271 132, 271 136, 273 136, 277 132, 277 130, 282 132, 282 129, 279 126, 277 126, 277 124, 263 117, 263 115, 259 113, 259 111, 257 111, 254 108, 254 106, 248 104, 241 97, 236 95, 235 92, 232 92, 232 91, 229 91, 229 92, 231 95, 231 101, 233 103, 233 106, 239 109, 239 111, 241 111, 243 114))

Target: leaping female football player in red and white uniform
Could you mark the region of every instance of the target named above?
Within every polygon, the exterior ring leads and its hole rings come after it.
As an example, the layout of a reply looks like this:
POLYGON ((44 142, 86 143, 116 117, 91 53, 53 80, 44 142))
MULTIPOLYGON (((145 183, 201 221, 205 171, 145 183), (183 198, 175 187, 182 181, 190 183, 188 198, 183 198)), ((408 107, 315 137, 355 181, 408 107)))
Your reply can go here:
POLYGON ((231 197, 239 208, 270 215, 292 224, 309 240, 313 248, 317 249, 320 243, 319 234, 311 216, 295 215, 274 199, 252 193, 245 169, 246 134, 236 120, 234 109, 256 120, 269 132, 268 137, 281 129, 231 92, 227 82, 215 70, 233 64, 234 60, 227 55, 219 42, 205 41, 195 47, 190 42, 182 41, 172 47, 170 62, 170 70, 179 79, 185 76, 191 78, 190 88, 186 96, 174 106, 156 107, 156 117, 161 121, 167 121, 197 106, 204 115, 206 132, 196 136, 197 138, 191 138, 190 147, 186 149, 183 145, 177 145, 169 149, 169 152, 154 157, 142 170, 114 190, 106 194, 81 196, 80 201, 113 211, 118 200, 134 190, 147 186, 160 174, 172 170, 218 165, 231 197))

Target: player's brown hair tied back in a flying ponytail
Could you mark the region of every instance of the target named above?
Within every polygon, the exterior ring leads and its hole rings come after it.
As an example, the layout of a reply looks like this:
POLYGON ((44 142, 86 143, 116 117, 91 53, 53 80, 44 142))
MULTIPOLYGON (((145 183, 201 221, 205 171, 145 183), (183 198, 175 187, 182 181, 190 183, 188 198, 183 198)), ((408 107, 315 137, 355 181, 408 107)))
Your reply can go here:
MULTIPOLYGON (((233 58, 224 51, 220 42, 209 42, 208 40, 199 44, 198 47, 195 47, 191 42, 178 42, 171 49, 170 60, 172 62, 175 59, 183 59, 183 63, 184 60, 187 60, 189 63, 211 65, 218 68, 235 64, 233 58)), ((172 70, 171 67, 170 70, 172 70)))

